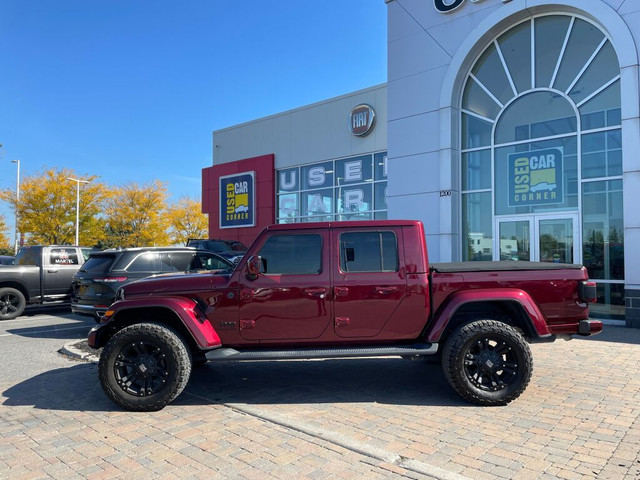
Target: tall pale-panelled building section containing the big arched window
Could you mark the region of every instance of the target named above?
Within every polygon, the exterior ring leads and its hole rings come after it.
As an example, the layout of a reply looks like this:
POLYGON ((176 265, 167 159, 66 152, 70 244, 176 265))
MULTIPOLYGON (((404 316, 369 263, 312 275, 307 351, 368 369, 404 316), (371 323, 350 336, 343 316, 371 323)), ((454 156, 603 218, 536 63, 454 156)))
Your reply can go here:
POLYGON ((640 326, 640 2, 387 5, 389 218, 432 260, 583 263, 640 326))

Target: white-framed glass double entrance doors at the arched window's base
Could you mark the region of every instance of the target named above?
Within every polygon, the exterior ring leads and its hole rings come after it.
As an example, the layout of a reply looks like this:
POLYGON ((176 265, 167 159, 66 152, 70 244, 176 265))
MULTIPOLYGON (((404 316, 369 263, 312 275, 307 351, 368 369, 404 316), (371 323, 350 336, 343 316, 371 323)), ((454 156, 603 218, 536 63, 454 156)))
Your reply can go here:
POLYGON ((494 260, 580 263, 577 226, 577 214, 500 217, 494 260))

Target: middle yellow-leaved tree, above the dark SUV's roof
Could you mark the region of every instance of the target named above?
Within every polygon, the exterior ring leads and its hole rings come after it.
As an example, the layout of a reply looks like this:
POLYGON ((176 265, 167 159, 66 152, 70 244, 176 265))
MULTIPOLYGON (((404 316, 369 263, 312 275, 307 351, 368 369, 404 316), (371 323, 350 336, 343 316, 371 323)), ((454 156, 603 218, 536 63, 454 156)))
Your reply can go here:
POLYGON ((106 200, 102 247, 145 247, 168 243, 165 226, 167 189, 158 180, 112 189, 106 200))

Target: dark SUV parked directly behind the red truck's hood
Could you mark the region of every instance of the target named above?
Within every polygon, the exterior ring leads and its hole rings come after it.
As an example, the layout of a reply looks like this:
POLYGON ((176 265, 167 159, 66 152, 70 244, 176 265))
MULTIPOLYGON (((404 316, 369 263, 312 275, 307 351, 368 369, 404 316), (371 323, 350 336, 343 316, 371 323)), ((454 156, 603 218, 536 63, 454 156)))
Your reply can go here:
POLYGON ((92 253, 71 282, 71 310, 96 322, 122 285, 151 275, 194 270, 231 271, 226 258, 188 247, 147 247, 92 253))

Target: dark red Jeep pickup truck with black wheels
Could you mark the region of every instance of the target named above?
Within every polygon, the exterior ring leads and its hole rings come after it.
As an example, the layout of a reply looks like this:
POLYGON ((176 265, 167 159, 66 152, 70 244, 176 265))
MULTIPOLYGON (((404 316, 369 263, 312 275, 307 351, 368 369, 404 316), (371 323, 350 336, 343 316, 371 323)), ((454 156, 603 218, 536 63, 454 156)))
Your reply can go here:
POLYGON ((504 405, 531 378, 528 342, 593 335, 580 265, 429 265, 421 222, 272 225, 228 271, 122 287, 89 345, 128 410, 159 410, 194 363, 399 355, 440 358, 466 400, 504 405))

